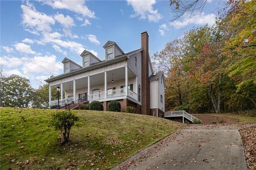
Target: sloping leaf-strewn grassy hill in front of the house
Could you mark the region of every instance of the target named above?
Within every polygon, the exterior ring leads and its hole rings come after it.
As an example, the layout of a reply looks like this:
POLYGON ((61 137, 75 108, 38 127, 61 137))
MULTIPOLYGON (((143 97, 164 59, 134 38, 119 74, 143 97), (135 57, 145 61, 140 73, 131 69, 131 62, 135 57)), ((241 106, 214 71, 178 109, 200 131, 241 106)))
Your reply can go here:
POLYGON ((1 169, 107 169, 166 137, 182 124, 138 114, 73 111, 71 142, 49 126, 53 109, 0 108, 1 169))

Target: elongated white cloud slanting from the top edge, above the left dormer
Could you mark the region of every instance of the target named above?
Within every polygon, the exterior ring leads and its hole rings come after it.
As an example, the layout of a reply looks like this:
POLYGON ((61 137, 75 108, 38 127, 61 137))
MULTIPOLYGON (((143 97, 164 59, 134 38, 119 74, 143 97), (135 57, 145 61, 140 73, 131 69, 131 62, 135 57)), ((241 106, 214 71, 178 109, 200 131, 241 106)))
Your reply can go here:
POLYGON ((69 11, 73 11, 77 14, 81 14, 88 18, 96 18, 95 13, 91 11, 86 5, 85 1, 42 1, 44 4, 50 5, 55 9, 67 9, 69 11))

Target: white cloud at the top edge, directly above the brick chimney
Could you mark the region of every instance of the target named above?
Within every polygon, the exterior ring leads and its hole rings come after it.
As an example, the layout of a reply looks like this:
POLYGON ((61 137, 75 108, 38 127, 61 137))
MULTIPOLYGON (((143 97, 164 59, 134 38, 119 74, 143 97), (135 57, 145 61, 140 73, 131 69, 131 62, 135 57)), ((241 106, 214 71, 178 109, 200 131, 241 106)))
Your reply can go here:
POLYGON ((162 19, 161 14, 157 10, 154 10, 153 5, 156 3, 156 0, 148 1, 135 1, 127 0, 127 4, 131 5, 134 10, 132 17, 139 16, 140 19, 148 19, 149 22, 158 22, 162 19))

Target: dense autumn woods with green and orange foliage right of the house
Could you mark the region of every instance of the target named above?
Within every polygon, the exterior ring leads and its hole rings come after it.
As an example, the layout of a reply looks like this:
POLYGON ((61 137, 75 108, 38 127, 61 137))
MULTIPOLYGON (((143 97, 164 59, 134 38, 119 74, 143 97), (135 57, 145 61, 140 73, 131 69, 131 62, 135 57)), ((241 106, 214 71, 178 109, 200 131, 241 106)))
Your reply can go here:
MULTIPOLYGON (((195 2, 171 5, 178 11, 183 5, 179 18, 195 2)), ((228 1, 223 11, 212 27, 192 29, 154 54, 155 69, 164 68, 166 76, 167 111, 255 110, 256 1, 228 1)))

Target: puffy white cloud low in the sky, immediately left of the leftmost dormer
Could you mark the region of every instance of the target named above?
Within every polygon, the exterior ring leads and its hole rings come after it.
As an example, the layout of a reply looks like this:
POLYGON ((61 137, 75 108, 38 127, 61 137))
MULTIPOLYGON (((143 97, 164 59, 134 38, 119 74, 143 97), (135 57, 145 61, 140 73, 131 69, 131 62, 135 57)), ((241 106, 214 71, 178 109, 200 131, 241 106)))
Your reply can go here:
POLYGON ((35 56, 25 60, 22 70, 25 74, 31 73, 58 73, 63 70, 61 62, 56 61, 55 55, 35 56))

